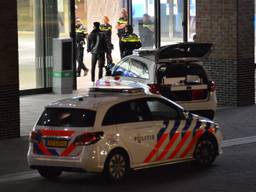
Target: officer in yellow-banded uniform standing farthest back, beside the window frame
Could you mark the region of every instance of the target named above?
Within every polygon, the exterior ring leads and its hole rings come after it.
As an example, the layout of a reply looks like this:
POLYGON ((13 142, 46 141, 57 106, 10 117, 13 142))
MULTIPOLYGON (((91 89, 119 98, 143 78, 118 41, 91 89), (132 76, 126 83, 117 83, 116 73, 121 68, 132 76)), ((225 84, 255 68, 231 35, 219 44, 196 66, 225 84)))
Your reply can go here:
POLYGON ((128 25, 128 13, 125 8, 121 10, 120 18, 117 21, 116 28, 117 28, 117 35, 119 37, 119 48, 120 48, 120 55, 122 57, 122 46, 121 46, 121 37, 125 33, 125 27, 128 25))

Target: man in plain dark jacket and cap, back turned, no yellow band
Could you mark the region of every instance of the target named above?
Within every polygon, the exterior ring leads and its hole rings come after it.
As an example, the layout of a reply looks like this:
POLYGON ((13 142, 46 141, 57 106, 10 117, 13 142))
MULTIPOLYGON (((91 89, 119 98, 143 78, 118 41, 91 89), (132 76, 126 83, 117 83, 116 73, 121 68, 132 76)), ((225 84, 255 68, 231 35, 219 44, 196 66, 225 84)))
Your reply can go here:
POLYGON ((99 67, 99 79, 103 75, 103 67, 105 65, 105 53, 107 52, 107 40, 100 31, 100 23, 93 23, 93 31, 88 36, 87 51, 92 54, 92 68, 91 68, 91 80, 95 81, 95 67, 98 62, 99 67))

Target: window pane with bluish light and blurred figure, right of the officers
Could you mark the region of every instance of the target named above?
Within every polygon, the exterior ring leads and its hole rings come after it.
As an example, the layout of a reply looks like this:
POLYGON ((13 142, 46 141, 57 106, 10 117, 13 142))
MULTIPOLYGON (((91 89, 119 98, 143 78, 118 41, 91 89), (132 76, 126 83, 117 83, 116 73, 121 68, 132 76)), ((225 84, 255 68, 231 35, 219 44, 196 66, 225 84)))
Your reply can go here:
POLYGON ((142 47, 155 47, 155 0, 132 0, 132 23, 142 47))

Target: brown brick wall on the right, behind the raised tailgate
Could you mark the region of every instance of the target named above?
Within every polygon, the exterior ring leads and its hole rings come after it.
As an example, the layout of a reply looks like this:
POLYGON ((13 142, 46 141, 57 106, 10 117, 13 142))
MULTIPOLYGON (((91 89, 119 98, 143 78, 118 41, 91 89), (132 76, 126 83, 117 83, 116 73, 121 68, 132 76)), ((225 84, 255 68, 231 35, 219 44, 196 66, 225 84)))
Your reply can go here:
POLYGON ((197 0, 198 42, 213 43, 206 61, 219 105, 255 103, 254 0, 197 0))

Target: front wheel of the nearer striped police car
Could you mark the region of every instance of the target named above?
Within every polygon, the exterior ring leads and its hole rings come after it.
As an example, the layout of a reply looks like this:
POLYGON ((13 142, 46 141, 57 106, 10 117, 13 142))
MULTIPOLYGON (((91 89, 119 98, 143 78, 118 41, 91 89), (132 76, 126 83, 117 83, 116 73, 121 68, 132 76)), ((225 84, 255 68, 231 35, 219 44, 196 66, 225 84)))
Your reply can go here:
POLYGON ((200 165, 210 166, 217 156, 216 142, 210 137, 200 139, 197 143, 194 156, 200 165))

